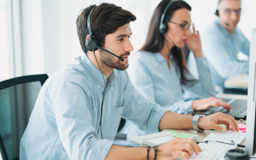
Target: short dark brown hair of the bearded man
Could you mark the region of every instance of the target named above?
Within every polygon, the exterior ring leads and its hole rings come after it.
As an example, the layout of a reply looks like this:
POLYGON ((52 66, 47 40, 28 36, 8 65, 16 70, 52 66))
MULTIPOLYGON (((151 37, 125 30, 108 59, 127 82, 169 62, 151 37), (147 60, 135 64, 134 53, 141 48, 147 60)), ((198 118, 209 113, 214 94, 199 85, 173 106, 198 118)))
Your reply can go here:
POLYGON ((90 5, 84 8, 76 19, 77 35, 84 53, 88 51, 85 47, 86 36, 89 35, 87 16, 92 8, 93 11, 90 18, 92 36, 99 41, 99 47, 104 46, 106 35, 115 33, 119 27, 136 20, 135 15, 115 4, 102 3, 98 6, 90 5))

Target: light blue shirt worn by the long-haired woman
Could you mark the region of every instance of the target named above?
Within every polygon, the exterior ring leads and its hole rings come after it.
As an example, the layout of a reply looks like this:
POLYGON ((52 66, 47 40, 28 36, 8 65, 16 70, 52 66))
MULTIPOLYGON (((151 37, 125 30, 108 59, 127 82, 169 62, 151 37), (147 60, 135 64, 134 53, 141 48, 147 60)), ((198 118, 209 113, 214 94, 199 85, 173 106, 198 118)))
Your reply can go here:
MULTIPOLYGON (((191 81, 181 84, 180 69, 170 58, 170 69, 161 53, 139 51, 131 56, 127 72, 135 86, 151 102, 166 106, 179 114, 192 111, 192 101, 215 95, 215 82, 210 73, 206 58, 196 58, 200 74, 196 80, 187 70, 184 75, 191 81), (188 100, 188 101, 186 101, 188 100)), ((131 121, 125 122, 122 133, 131 135, 148 134, 138 129, 131 121)))

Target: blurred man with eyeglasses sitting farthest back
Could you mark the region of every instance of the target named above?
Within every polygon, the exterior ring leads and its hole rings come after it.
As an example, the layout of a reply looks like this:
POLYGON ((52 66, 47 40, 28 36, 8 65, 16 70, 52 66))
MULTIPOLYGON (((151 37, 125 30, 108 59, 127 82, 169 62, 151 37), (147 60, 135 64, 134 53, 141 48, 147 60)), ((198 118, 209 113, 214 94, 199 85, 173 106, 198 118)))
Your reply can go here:
MULTIPOLYGON (((215 15, 218 19, 201 33, 202 50, 216 84, 224 89, 224 82, 229 76, 248 74, 249 62, 237 60, 237 55, 242 52, 249 57, 250 42, 237 27, 241 0, 219 0, 215 15)), ((193 55, 189 55, 188 66, 192 62, 193 55)), ((191 72, 195 73, 192 69, 191 72)))

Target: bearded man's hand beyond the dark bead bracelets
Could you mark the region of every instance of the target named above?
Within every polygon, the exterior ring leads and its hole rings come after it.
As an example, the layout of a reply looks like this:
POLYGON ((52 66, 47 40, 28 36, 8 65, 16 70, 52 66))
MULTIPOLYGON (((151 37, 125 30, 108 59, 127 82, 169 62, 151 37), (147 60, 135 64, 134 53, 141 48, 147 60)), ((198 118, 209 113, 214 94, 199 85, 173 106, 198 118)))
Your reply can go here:
POLYGON ((183 157, 184 160, 188 160, 194 152, 196 155, 199 155, 199 152, 203 151, 194 140, 188 138, 174 138, 164 145, 159 146, 158 149, 160 152, 157 152, 157 159, 183 157))

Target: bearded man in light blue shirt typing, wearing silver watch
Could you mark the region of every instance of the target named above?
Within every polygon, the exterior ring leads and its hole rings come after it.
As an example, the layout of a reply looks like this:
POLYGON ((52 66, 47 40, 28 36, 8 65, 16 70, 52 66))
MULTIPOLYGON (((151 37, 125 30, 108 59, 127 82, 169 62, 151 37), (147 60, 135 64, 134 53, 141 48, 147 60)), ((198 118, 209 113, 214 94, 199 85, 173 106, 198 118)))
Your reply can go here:
POLYGON ((82 10, 76 25, 85 54, 44 83, 20 141, 20 159, 188 159, 202 152, 192 139, 174 139, 157 148, 113 145, 121 117, 148 132, 165 128, 224 132, 218 124, 239 130, 231 116, 176 114, 134 89, 124 71, 133 50, 129 37, 134 20, 131 12, 115 4, 82 10))

